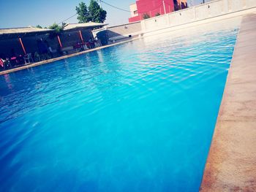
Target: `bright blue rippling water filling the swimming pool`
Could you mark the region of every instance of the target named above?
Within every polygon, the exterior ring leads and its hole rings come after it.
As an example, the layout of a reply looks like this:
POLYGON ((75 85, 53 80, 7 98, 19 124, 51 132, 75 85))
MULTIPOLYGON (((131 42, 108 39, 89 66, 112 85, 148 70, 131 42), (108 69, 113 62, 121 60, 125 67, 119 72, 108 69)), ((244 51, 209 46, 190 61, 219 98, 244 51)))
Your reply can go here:
POLYGON ((0 191, 198 191, 237 29, 0 76, 0 191))

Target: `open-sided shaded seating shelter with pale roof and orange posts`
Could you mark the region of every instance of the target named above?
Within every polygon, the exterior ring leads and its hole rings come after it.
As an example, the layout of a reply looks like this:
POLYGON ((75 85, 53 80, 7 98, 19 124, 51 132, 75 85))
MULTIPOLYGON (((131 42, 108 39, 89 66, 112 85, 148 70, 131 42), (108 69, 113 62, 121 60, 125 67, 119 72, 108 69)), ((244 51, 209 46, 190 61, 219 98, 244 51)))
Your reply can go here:
POLYGON ((23 65, 27 63, 26 58, 32 63, 78 52, 93 38, 91 31, 105 25, 92 22, 67 24, 60 32, 34 27, 0 28, 0 58, 10 61, 8 67, 0 66, 0 71, 23 65))

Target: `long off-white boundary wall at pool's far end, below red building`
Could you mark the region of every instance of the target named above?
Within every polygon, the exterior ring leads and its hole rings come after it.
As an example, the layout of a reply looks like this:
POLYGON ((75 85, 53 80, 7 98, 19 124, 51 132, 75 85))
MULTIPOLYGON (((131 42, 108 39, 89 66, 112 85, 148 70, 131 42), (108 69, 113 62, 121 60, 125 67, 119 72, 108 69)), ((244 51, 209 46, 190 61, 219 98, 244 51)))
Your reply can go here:
POLYGON ((195 7, 141 21, 143 32, 178 26, 256 7, 256 0, 216 0, 195 7))

